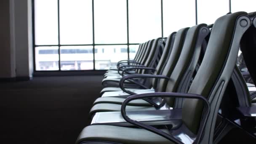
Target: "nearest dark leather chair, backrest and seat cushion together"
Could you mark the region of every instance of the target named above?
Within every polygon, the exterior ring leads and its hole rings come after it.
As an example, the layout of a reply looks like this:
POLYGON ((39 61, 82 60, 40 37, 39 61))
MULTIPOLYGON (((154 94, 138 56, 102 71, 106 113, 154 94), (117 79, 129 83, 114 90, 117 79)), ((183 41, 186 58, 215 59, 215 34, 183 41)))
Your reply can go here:
MULTIPOLYGON (((188 96, 182 108, 182 125, 176 129, 169 128, 169 132, 165 133, 169 134, 168 136, 146 125, 140 125, 144 129, 90 125, 80 133, 76 144, 86 141, 109 141, 123 144, 143 143, 146 141, 146 143, 153 144, 167 143, 166 138, 172 141, 176 139, 183 143, 186 140, 189 140, 189 143, 213 143, 219 105, 232 75, 232 69, 235 67, 240 39, 250 24, 250 19, 245 16, 246 14, 245 12, 237 12, 222 16, 216 20, 205 52, 206 59, 203 59, 189 88, 188 93, 201 95, 200 97, 206 97, 205 101, 209 101, 210 110, 208 115, 205 114, 207 110, 204 109, 201 100, 188 99, 188 96), (146 128, 166 138, 155 136, 151 134, 152 132, 145 130, 146 128)), ((171 95, 171 93, 167 93, 167 95, 171 95)), ((156 94, 153 96, 156 96, 156 94)), ((159 96, 163 96, 163 94, 159 93, 159 96)), ((138 96, 134 95, 129 99, 136 99, 136 97, 138 96)), ((143 97, 147 97, 147 94, 144 94, 143 97)), ((131 120, 129 120, 129 123, 135 124, 131 120)), ((164 132, 166 131, 167 128, 165 128, 164 132)), ((168 143, 172 142, 169 141, 168 143)))

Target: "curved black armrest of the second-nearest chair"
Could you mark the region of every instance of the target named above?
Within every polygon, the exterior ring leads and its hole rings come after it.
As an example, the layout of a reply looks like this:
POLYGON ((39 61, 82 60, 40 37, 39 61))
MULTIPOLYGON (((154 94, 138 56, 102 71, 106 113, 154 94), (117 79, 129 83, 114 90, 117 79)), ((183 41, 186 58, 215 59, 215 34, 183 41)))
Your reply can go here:
MULTIPOLYGON (((124 88, 124 82, 125 80, 128 80, 128 79, 132 79, 132 78, 137 78, 137 77, 149 77, 149 78, 164 78, 164 79, 170 79, 170 77, 167 77, 165 75, 149 75, 149 74, 134 74, 134 75, 126 75, 124 77, 122 77, 120 79, 120 82, 119 82, 119 87, 125 92, 125 93, 128 93, 128 94, 131 94, 131 95, 135 95, 137 93, 134 93, 132 91, 128 91, 128 90, 125 90, 124 88)), ((130 82, 133 82, 137 85, 140 85, 141 87, 144 87, 146 89, 148 89, 147 87, 145 87, 144 85, 142 85, 141 83, 138 83, 138 82, 135 82, 135 81, 131 81, 131 80, 128 80, 130 82)), ((152 101, 151 99, 143 99, 144 101, 147 101, 149 104, 152 104, 155 108, 160 108, 160 107, 163 107, 163 105, 165 104, 165 99, 160 103, 160 104, 156 104, 154 101, 152 101)))

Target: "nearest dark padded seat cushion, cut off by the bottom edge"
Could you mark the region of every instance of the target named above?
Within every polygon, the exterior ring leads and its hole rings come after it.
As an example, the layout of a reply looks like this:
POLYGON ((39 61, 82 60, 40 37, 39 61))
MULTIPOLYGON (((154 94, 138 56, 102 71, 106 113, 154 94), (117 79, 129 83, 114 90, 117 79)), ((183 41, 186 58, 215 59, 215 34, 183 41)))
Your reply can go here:
MULTIPOLYGON (((167 130, 162 130, 169 133, 167 130)), ((82 141, 111 141, 121 144, 173 144, 168 139, 141 128, 112 125, 89 125, 83 129, 76 144, 82 141)))

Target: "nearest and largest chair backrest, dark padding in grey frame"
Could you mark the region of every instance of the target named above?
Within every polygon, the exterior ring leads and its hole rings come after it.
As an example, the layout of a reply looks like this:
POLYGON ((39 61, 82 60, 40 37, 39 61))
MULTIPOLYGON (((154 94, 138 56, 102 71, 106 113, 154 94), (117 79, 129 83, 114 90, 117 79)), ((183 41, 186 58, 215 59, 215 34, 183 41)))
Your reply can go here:
POLYGON ((210 103, 210 114, 200 125, 203 103, 198 99, 185 99, 182 121, 189 130, 197 134, 205 125, 201 143, 212 143, 219 105, 232 75, 243 33, 250 26, 245 12, 227 14, 213 25, 202 64, 189 88, 188 93, 205 96, 210 103))

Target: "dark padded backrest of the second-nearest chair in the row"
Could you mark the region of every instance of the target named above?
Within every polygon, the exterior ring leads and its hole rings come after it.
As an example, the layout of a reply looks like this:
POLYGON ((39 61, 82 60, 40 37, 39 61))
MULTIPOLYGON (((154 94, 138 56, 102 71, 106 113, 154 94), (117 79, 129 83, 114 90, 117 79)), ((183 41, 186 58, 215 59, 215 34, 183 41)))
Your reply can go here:
MULTIPOLYGON (((179 85, 184 85, 184 83, 190 82, 199 60, 203 40, 205 40, 205 37, 209 32, 210 30, 206 24, 198 24, 189 28, 179 60, 171 73, 170 80, 168 81, 165 90, 166 92, 177 92, 179 85), (182 77, 185 78, 181 82, 182 77)), ((178 92, 187 93, 187 91, 178 92)), ((170 107, 173 107, 174 99, 166 98, 166 102, 170 107)))

